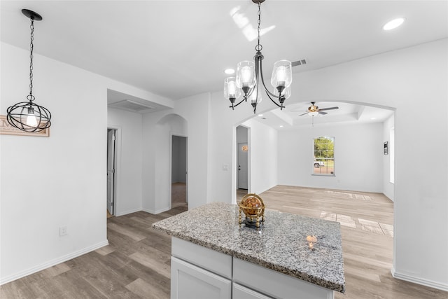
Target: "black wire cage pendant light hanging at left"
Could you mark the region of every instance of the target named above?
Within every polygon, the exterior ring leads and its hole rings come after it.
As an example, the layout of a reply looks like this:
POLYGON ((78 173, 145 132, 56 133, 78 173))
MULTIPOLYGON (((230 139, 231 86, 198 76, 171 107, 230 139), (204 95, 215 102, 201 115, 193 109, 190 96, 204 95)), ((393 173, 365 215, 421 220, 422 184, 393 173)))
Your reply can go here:
POLYGON ((33 95, 33 41, 34 41, 34 21, 42 20, 41 15, 28 9, 22 9, 22 13, 31 20, 31 43, 30 43, 30 63, 29 63, 29 95, 27 102, 20 102, 8 107, 6 116, 8 123, 13 127, 25 132, 40 132, 50 127, 51 113, 44 106, 34 103, 33 95))

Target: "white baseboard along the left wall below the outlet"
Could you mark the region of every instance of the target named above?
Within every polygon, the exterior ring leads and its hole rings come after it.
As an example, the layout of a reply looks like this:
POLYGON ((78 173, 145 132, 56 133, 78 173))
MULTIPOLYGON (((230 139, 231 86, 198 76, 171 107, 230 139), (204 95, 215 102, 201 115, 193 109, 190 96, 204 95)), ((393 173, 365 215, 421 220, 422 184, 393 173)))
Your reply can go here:
POLYGON ((107 239, 105 241, 103 241, 103 242, 99 242, 97 244, 94 244, 92 246, 86 247, 84 249, 80 249, 78 251, 66 254, 65 256, 61 256, 60 258, 55 258, 54 260, 50 260, 50 261, 48 261, 46 263, 43 263, 41 265, 37 265, 36 267, 31 267, 31 268, 29 268, 27 270, 20 271, 20 272, 18 272, 16 274, 13 274, 13 275, 10 275, 10 276, 7 276, 7 277, 2 277, 0 279, 0 286, 2 284, 7 284, 10 281, 14 281, 16 279, 20 279, 22 277, 25 277, 25 276, 28 276, 30 274, 39 272, 41 270, 45 270, 45 269, 47 269, 49 267, 52 267, 54 265, 57 265, 57 264, 60 264, 60 263, 64 263, 67 260, 71 260, 72 258, 77 258, 78 256, 82 256, 85 253, 89 253, 90 251, 97 250, 97 249, 99 249, 99 248, 101 248, 103 246, 106 246, 106 245, 109 245, 109 241, 107 239))

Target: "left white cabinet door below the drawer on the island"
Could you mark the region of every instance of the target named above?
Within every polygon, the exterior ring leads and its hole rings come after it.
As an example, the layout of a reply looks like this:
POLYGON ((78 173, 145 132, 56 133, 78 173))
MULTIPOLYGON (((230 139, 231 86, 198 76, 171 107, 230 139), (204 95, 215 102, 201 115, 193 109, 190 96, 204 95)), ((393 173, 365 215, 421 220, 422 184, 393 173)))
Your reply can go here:
POLYGON ((230 299, 231 288, 229 279, 174 256, 171 258, 172 299, 230 299))

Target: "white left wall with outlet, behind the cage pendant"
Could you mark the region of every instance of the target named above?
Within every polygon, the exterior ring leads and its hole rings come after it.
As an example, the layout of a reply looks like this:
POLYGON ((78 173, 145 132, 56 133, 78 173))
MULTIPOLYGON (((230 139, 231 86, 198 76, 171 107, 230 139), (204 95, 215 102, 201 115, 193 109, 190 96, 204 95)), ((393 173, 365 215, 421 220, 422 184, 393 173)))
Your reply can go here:
MULTIPOLYGON (((1 43, 0 65, 5 114, 29 92, 29 75, 23 71, 29 52, 1 43)), ((48 138, 0 135, 0 284, 108 244, 108 88, 173 104, 34 53, 33 91, 36 103, 52 113, 52 125, 48 138), (68 235, 59 237, 62 225, 68 235)))

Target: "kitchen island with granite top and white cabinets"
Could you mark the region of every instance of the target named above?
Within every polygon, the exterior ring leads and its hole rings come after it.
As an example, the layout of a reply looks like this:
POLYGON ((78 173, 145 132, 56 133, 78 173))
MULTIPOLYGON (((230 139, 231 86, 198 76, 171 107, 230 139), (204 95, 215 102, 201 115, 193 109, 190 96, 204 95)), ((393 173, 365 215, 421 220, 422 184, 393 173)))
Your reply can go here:
POLYGON ((266 209, 259 230, 212 202, 153 223, 172 235, 172 298, 333 298, 344 293, 339 223, 266 209), (309 249, 307 236, 317 242, 309 249))

